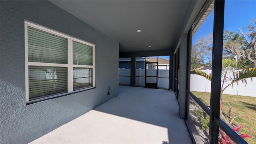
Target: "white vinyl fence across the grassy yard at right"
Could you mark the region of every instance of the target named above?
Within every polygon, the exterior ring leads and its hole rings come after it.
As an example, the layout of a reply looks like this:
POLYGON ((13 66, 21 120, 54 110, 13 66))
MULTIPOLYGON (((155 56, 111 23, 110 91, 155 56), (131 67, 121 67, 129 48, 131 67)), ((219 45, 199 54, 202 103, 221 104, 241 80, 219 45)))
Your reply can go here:
MULTIPOLYGON (((201 71, 206 72, 206 74, 212 73, 212 70, 201 71)), ((223 94, 256 97, 256 78, 252 78, 252 80, 248 78, 246 81, 247 84, 239 81, 238 84, 235 83, 233 86, 228 86, 223 94)), ((224 87, 228 84, 224 84, 224 87)), ((211 92, 211 81, 197 74, 190 74, 190 91, 211 92)))

